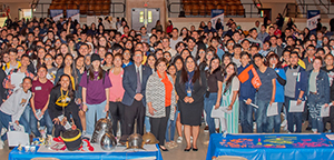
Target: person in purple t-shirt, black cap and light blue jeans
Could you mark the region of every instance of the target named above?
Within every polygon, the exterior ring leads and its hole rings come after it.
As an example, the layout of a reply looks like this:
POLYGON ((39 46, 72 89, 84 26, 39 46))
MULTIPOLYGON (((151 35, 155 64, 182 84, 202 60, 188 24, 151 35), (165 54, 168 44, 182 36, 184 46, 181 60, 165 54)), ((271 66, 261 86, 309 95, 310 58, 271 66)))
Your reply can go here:
POLYGON ((109 110, 110 79, 100 67, 101 59, 94 53, 90 59, 88 71, 82 74, 80 87, 82 87, 82 110, 86 112, 87 136, 94 132, 95 117, 97 120, 105 117, 104 112, 109 110))

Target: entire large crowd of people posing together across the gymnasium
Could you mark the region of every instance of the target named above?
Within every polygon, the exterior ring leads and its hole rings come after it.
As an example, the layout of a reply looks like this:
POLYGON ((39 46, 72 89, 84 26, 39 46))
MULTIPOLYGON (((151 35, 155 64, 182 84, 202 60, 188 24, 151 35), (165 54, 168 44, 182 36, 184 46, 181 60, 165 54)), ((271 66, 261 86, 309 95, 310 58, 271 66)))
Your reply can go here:
POLYGON ((120 141, 151 132, 163 151, 181 143, 183 130, 185 151, 197 151, 203 113, 209 134, 216 128, 252 133, 254 121, 258 133, 279 132, 281 112, 288 132, 302 132, 306 120, 314 132, 324 132, 326 122, 334 131, 334 112, 321 117, 334 100, 334 40, 322 31, 315 36, 294 26, 282 33, 268 26, 266 32, 262 26, 259 33, 267 36, 259 40, 256 27, 246 34, 233 21, 228 31, 212 22, 169 34, 129 30, 126 21, 120 28, 122 33, 102 23, 81 28, 70 19, 1 28, 1 128, 14 122, 36 137, 41 129, 59 137, 63 121, 72 119, 90 138, 109 111, 120 141), (292 111, 292 101, 305 103, 304 111, 292 111), (278 114, 267 116, 273 103, 278 114), (222 107, 227 111, 216 121, 212 112, 222 107))

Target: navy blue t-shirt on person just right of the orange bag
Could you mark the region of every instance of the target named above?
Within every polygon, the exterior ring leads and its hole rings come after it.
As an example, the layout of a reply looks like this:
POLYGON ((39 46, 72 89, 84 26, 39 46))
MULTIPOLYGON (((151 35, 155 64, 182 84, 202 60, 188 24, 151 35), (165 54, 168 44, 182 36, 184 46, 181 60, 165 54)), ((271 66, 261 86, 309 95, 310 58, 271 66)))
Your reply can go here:
POLYGON ((276 72, 272 68, 267 68, 265 72, 256 69, 256 72, 262 82, 262 86, 257 90, 257 100, 271 101, 273 94, 272 80, 277 78, 276 72))

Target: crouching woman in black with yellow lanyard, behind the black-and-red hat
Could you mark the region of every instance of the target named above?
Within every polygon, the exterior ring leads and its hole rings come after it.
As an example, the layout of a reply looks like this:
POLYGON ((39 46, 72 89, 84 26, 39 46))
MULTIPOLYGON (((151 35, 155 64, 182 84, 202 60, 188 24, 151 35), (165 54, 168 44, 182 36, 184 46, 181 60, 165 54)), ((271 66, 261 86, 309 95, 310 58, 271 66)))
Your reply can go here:
POLYGON ((62 74, 59 81, 50 92, 49 114, 55 124, 55 137, 59 137, 66 129, 61 126, 61 117, 70 120, 72 117, 77 128, 81 129, 81 122, 78 116, 78 107, 75 102, 76 93, 70 80, 70 76, 62 74))

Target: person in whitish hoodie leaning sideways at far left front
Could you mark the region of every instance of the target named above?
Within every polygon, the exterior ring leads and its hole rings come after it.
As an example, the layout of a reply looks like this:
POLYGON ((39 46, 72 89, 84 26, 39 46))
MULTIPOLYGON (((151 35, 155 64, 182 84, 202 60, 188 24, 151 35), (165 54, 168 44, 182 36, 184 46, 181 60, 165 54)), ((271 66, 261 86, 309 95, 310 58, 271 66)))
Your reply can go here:
MULTIPOLYGON (((29 123, 21 116, 31 98, 31 91, 29 90, 31 86, 31 78, 24 78, 22 87, 13 91, 13 93, 2 103, 0 107, 0 130, 2 127, 8 129, 9 122, 14 122, 18 126, 22 124, 24 129, 27 129, 29 123)), ((7 133, 1 137, 1 140, 7 140, 7 133)))

